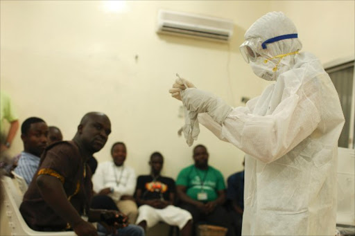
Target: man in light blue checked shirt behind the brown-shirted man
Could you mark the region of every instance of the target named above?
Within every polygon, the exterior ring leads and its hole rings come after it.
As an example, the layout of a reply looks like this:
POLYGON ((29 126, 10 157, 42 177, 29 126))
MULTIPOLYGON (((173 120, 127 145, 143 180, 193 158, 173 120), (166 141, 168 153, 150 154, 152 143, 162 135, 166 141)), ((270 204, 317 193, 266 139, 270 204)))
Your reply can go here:
MULTIPOLYGON (((40 165, 40 156, 47 145, 48 126, 41 118, 27 118, 21 125, 21 139, 24 151, 19 154, 15 173, 22 176, 29 185, 40 165)), ((14 161, 14 165, 16 165, 14 161)))

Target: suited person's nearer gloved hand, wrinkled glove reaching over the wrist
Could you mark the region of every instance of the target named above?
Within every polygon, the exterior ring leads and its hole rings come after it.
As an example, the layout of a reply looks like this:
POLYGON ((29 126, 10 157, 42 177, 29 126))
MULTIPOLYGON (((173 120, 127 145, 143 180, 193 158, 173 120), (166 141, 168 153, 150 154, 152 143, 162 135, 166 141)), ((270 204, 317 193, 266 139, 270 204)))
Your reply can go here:
POLYGON ((182 104, 190 111, 190 118, 207 112, 214 121, 222 125, 227 115, 232 111, 225 101, 200 89, 185 89, 181 91, 181 97, 182 104))

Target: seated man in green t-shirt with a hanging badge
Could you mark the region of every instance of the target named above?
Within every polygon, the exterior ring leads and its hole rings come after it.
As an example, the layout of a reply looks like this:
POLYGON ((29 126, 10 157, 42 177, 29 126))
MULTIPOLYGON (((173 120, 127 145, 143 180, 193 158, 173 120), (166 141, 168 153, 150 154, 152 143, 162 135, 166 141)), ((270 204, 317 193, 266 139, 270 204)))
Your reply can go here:
POLYGON ((204 145, 193 148, 194 165, 182 169, 176 181, 176 190, 181 201, 180 208, 188 210, 193 224, 207 224, 228 228, 227 235, 234 235, 230 227, 225 203, 225 181, 219 170, 208 165, 209 154, 204 145))

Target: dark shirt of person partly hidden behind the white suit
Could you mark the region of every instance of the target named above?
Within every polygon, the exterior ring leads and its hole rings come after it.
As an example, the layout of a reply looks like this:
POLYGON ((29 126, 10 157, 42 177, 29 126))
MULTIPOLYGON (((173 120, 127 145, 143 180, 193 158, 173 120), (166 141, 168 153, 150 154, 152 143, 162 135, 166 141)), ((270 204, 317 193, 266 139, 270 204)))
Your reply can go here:
POLYGON ((244 170, 228 177, 227 200, 236 201, 238 206, 244 209, 244 170))

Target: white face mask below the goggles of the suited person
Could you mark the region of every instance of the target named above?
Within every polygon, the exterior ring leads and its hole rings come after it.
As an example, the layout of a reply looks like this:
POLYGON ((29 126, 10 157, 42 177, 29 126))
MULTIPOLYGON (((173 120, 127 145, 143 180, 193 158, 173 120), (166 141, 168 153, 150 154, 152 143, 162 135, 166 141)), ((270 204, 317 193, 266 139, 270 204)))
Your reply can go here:
POLYGON ((250 66, 258 77, 268 81, 276 80, 275 64, 270 60, 266 61, 263 57, 257 57, 255 62, 250 62, 250 66))

